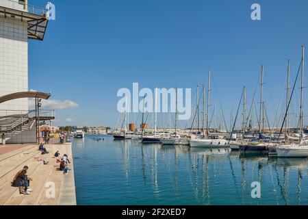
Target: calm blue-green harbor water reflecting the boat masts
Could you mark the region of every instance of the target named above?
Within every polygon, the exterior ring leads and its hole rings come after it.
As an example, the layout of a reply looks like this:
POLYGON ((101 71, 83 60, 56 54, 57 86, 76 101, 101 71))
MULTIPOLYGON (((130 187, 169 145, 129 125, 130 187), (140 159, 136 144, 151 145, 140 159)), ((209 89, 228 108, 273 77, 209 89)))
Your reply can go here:
POLYGON ((229 152, 112 136, 75 139, 77 204, 308 205, 307 159, 229 152), (254 181, 261 183, 261 198, 251 198, 254 181))

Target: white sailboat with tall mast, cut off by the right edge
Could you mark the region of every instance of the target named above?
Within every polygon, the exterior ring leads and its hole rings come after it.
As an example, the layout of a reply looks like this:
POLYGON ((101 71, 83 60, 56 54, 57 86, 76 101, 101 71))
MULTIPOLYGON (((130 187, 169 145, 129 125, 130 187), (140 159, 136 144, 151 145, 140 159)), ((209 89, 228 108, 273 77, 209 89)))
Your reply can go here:
MULTIPOLYGON (((276 147, 278 157, 308 157, 308 144, 303 140, 303 88, 304 88, 305 45, 302 46, 301 88, 300 88, 300 135, 298 144, 281 144, 276 147)), ((286 112, 287 114, 287 112, 286 112)))

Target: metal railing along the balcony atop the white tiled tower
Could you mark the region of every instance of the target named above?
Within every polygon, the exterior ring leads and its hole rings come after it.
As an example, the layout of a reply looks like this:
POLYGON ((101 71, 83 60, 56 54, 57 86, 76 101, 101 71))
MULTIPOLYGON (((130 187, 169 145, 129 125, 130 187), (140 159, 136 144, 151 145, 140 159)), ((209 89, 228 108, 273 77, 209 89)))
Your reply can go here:
POLYGON ((12 8, 15 10, 22 10, 40 16, 45 16, 47 14, 46 8, 34 5, 25 5, 24 1, 0 0, 0 6, 3 6, 5 8, 12 8))

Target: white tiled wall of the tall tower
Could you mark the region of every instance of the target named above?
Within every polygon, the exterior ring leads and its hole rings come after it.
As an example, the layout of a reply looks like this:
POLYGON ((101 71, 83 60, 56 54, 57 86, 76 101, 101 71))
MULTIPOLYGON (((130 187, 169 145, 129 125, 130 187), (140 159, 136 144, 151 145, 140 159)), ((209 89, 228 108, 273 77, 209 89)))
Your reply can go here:
MULTIPOLYGON (((27 12, 18 0, 0 0, 0 6, 27 12)), ((14 16, 0 16, 0 96, 28 91, 28 23, 14 16)), ((1 114, 8 110, 29 110, 28 99, 1 104, 1 114)))

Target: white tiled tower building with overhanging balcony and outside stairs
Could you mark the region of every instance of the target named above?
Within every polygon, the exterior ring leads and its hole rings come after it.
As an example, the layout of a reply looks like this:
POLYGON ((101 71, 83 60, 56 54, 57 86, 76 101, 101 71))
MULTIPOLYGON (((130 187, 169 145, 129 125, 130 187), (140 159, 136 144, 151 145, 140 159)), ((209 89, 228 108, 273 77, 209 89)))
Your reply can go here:
MULTIPOLYGON (((28 40, 43 40, 48 16, 45 8, 28 5, 27 0, 0 0, 0 97, 28 92, 28 40)), ((0 103, 0 132, 7 142, 36 141, 34 115, 30 120, 28 113, 25 96, 0 103)))

